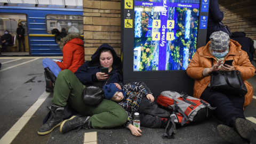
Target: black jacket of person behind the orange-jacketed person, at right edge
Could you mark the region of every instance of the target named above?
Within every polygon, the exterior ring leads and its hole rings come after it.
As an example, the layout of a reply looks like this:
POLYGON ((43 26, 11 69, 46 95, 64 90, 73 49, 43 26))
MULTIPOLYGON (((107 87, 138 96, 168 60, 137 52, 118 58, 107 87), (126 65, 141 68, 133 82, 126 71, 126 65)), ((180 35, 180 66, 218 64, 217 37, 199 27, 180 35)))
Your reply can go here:
POLYGON ((247 52, 249 60, 253 60, 255 49, 253 46, 254 42, 250 37, 246 37, 244 32, 236 31, 232 33, 232 37, 230 37, 230 39, 237 41, 242 46, 241 49, 247 52))

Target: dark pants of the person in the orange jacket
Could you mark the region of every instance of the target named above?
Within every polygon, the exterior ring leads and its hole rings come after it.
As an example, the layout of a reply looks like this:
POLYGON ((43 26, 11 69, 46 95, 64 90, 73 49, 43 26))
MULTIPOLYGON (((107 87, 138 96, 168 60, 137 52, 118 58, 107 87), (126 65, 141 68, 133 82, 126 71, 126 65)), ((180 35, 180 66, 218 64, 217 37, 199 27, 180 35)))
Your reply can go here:
POLYGON ((244 97, 232 95, 228 92, 211 92, 210 87, 207 87, 200 98, 209 102, 212 107, 217 107, 214 110, 214 114, 219 121, 227 126, 232 126, 230 122, 233 117, 245 118, 243 110, 244 97))

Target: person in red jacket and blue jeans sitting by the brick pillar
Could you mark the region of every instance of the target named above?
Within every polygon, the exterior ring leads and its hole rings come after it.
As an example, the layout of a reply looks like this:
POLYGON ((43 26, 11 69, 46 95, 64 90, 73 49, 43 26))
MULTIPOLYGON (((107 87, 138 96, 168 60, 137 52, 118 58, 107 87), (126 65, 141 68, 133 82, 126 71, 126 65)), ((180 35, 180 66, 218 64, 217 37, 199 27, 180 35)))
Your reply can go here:
POLYGON ((59 44, 63 53, 61 61, 44 58, 42 63, 45 70, 46 92, 52 92, 52 83, 56 81, 56 77, 61 70, 69 69, 73 73, 84 63, 84 42, 77 33, 69 34, 59 32, 53 29, 55 42, 59 44), (51 82, 52 81, 52 82, 51 82))

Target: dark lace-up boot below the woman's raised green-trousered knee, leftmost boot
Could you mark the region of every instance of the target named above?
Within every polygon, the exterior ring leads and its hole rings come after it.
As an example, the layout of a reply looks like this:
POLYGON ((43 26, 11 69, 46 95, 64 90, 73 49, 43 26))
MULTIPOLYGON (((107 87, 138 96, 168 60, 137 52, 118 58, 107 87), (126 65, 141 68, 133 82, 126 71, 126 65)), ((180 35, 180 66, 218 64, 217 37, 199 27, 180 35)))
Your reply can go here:
POLYGON ((60 126, 63 121, 62 119, 62 113, 64 110, 63 107, 52 105, 50 108, 49 107, 47 108, 50 110, 51 114, 48 120, 46 121, 46 123, 42 125, 38 130, 37 133, 39 135, 44 135, 52 132, 52 130, 55 129, 55 127, 60 126))

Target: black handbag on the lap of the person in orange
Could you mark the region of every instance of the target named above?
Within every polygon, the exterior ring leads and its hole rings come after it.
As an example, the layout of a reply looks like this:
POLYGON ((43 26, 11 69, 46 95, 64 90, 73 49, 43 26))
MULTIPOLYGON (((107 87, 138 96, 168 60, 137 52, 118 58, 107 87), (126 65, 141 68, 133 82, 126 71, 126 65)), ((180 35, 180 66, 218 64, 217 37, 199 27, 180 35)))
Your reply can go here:
POLYGON ((211 74, 211 91, 230 92, 243 97, 247 88, 239 70, 213 71, 211 74))

